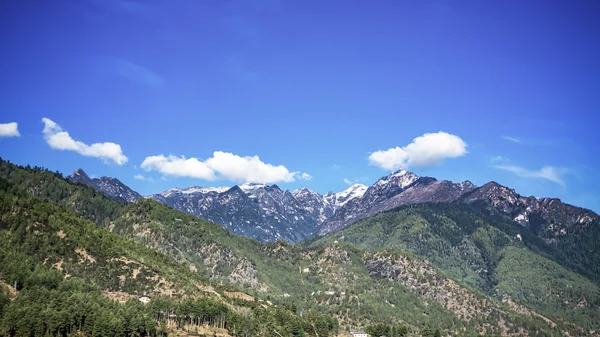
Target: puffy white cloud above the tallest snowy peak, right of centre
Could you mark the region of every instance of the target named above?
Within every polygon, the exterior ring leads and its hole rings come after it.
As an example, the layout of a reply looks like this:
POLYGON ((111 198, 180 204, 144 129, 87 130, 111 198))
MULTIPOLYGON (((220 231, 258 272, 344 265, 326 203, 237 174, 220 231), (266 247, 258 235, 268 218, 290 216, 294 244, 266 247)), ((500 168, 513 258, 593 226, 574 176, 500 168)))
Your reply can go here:
POLYGON ((404 147, 373 152, 369 164, 393 171, 409 166, 430 166, 466 153, 467 144, 460 137, 440 131, 419 136, 404 147))

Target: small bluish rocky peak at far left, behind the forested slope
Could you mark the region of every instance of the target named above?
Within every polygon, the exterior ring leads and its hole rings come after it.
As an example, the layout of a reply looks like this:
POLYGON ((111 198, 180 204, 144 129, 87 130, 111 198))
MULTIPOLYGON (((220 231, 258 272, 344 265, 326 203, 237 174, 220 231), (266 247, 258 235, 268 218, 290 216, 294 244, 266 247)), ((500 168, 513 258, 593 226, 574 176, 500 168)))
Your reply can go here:
POLYGON ((123 184, 119 179, 111 177, 90 178, 82 169, 78 169, 67 177, 69 181, 82 183, 104 193, 109 199, 120 202, 133 202, 142 196, 123 184))

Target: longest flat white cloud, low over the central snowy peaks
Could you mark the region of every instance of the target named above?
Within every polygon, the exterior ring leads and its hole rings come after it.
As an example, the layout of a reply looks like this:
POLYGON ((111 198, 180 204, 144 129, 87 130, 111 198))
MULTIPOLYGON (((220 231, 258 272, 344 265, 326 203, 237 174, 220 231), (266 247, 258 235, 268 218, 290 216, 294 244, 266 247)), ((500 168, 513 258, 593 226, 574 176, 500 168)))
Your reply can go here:
POLYGON ((258 156, 241 157, 222 151, 215 151, 212 157, 204 161, 197 158, 186 159, 183 156, 150 156, 144 159, 141 167, 146 171, 158 171, 176 177, 263 184, 312 178, 308 173, 290 172, 283 165, 264 163, 258 156))

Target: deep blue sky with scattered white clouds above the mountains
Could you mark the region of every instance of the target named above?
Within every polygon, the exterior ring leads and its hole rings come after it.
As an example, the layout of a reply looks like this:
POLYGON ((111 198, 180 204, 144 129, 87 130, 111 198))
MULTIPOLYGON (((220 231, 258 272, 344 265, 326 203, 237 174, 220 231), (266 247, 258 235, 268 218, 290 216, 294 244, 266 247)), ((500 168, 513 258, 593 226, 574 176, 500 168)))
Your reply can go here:
POLYGON ((142 194, 338 191, 407 167, 600 211, 599 15, 597 1, 3 1, 0 156, 142 194))

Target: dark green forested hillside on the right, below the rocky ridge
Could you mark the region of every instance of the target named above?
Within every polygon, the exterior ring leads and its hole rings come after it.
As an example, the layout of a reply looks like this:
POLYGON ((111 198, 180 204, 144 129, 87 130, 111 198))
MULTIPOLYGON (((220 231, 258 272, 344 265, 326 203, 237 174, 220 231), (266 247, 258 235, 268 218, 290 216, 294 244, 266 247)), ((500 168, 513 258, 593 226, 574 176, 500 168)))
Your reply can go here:
POLYGON ((600 289, 565 252, 469 205, 404 206, 304 244, 333 242, 369 251, 401 249, 498 300, 592 330, 600 327, 600 289))

